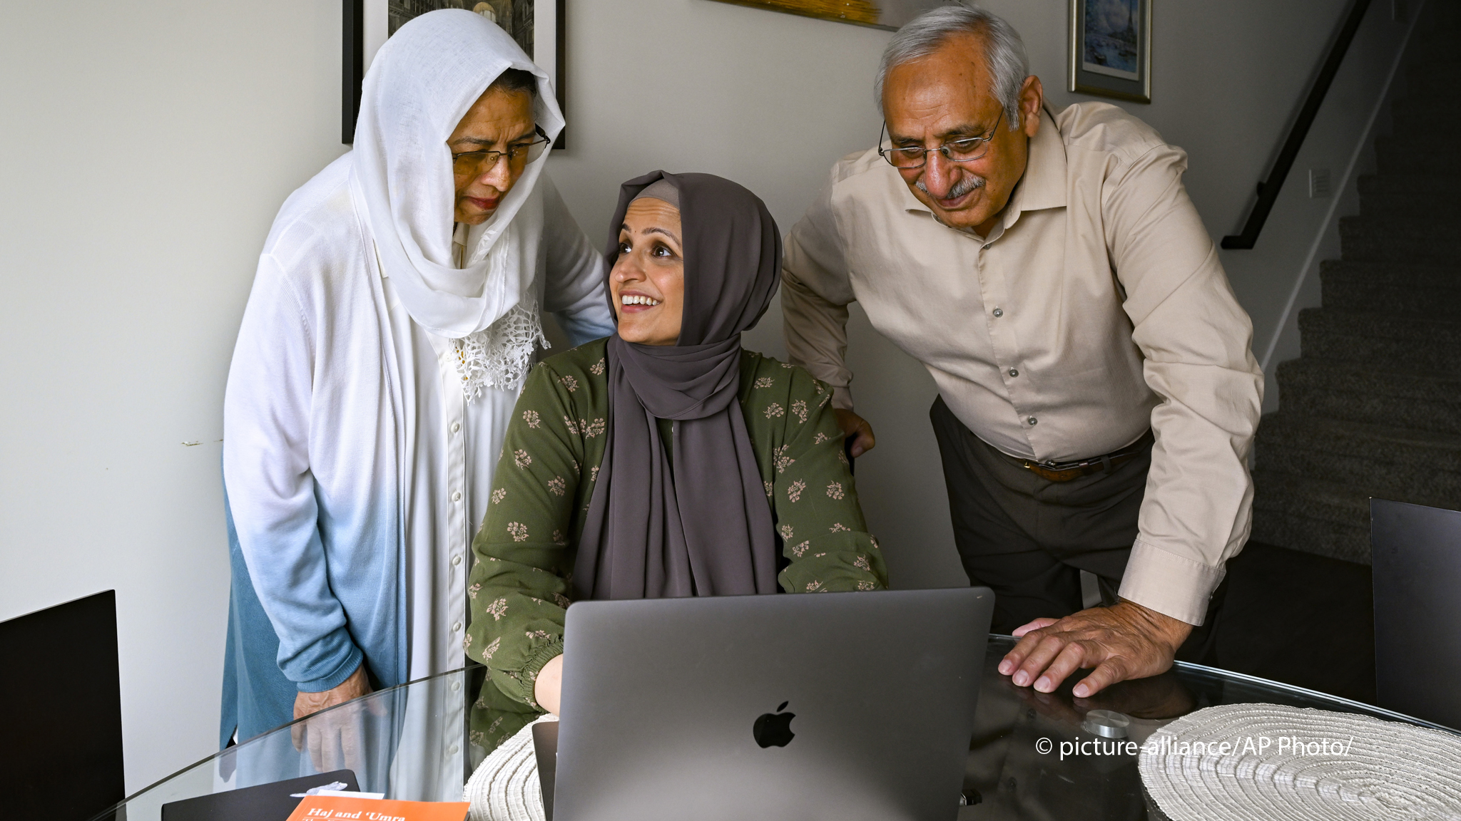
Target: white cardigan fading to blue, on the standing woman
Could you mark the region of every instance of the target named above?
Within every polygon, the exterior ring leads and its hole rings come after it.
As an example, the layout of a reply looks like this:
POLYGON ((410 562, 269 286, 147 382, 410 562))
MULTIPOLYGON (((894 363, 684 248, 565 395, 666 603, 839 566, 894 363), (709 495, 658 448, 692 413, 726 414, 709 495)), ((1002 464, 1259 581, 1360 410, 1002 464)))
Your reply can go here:
MULTIPOLYGON (((235 561, 241 691, 278 690, 267 679, 281 675, 291 691, 329 690, 362 659, 383 685, 460 666, 466 548, 516 402, 494 389, 463 399, 450 340, 415 324, 381 275, 351 161, 281 209, 228 374, 226 500, 275 633, 240 616, 235 561), (269 671, 257 656, 273 638, 269 671)), ((573 343, 612 333, 603 257, 546 174, 513 224, 536 260, 530 292, 573 343)))

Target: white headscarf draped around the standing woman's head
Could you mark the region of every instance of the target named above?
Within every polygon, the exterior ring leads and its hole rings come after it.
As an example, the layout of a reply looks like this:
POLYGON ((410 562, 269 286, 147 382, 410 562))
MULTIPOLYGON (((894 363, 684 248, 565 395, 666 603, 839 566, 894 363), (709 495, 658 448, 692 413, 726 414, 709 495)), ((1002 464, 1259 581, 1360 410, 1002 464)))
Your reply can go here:
MULTIPOLYGON (((456 184, 447 139, 507 69, 538 77, 535 115, 555 139, 564 121, 546 73, 506 31, 473 12, 428 12, 403 25, 375 56, 361 95, 354 174, 381 266, 411 318, 450 339, 476 335, 487 342, 478 332, 523 301, 535 273, 532 260, 517 259, 522 243, 510 226, 548 152, 527 165, 497 212, 470 231, 466 264, 453 264, 456 184)), ((536 304, 524 308, 514 314, 530 314, 536 329, 536 304)))

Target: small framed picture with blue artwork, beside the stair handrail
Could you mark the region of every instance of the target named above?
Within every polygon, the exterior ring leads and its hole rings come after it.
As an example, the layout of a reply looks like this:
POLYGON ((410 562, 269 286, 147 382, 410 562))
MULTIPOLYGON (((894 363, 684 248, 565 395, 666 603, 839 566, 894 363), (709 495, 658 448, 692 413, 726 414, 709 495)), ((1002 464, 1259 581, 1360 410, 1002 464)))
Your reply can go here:
POLYGON ((1069 91, 1151 102, 1154 0, 1069 1, 1069 91))

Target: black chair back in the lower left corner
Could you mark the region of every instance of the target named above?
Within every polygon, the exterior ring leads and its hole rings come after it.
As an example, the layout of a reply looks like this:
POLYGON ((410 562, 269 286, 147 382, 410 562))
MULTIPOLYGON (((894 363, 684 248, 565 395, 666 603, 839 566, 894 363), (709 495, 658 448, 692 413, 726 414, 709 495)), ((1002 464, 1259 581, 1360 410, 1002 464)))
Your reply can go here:
POLYGON ((117 593, 0 622, 0 817, 88 821, 126 798, 117 593))

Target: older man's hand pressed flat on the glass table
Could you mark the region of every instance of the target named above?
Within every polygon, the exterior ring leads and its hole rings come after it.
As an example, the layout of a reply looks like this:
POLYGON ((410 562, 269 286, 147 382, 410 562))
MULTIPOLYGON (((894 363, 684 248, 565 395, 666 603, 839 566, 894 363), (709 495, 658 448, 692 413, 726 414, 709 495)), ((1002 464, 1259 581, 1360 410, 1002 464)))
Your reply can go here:
POLYGON ((1037 618, 1014 631, 1020 638, 999 662, 1017 687, 1053 692, 1077 669, 1091 671, 1072 694, 1087 698, 1128 678, 1147 678, 1172 668, 1192 625, 1122 599, 1065 618, 1037 618))

